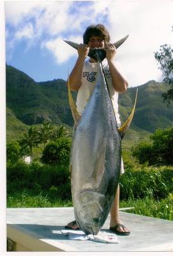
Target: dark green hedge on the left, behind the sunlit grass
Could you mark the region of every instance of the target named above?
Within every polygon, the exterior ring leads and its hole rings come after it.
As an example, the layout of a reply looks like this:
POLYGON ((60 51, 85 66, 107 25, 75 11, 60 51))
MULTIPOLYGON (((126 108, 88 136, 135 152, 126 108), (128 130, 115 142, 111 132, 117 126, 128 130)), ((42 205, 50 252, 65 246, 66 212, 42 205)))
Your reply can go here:
POLYGON ((36 196, 41 192, 49 196, 49 200, 71 200, 70 172, 68 166, 47 165, 33 162, 32 164, 17 163, 7 165, 7 194, 19 191, 30 191, 36 196), (51 188, 56 188, 52 194, 51 188))

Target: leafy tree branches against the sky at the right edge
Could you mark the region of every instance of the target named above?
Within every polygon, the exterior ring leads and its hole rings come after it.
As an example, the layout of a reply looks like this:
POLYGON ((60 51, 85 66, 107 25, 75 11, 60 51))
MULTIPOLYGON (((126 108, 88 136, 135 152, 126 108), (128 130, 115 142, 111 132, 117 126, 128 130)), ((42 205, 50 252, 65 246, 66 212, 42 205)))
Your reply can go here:
POLYGON ((170 45, 161 45, 160 51, 154 53, 156 61, 163 73, 163 82, 170 84, 171 88, 162 94, 164 102, 170 104, 173 101, 173 49, 170 45))

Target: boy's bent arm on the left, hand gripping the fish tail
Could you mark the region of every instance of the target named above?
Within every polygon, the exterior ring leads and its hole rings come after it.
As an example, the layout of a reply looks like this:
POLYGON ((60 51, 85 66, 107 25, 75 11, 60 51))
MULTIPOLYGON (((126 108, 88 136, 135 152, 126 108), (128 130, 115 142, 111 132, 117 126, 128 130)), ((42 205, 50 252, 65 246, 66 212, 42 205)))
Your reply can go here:
MULTIPOLYGON (((78 91, 81 85, 82 81, 82 70, 84 67, 84 61, 87 57, 87 54, 89 52, 89 47, 84 44, 80 44, 78 51, 78 58, 75 63, 75 66, 73 67, 73 70, 70 73, 70 76, 68 77, 68 81, 70 82, 70 89, 71 91, 78 91)), ((67 83, 68 83, 67 81, 67 83)))

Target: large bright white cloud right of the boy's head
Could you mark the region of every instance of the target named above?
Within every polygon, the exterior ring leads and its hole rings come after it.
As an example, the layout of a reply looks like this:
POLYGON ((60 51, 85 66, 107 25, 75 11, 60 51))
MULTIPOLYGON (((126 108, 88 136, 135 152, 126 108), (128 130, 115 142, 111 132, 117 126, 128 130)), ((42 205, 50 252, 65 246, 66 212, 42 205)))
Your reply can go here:
POLYGON ((110 35, 118 40, 129 34, 126 43, 117 50, 131 85, 160 81, 161 72, 154 52, 162 44, 172 44, 173 3, 163 1, 113 2, 109 8, 110 35))

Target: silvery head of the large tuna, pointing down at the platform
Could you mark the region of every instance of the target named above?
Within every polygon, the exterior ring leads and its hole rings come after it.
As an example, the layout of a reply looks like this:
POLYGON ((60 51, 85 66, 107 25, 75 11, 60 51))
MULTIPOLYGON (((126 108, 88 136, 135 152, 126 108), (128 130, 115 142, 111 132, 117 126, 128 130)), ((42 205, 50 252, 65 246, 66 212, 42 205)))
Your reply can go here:
POLYGON ((84 190, 77 195, 75 219, 86 234, 96 235, 102 228, 105 204, 105 196, 96 191, 84 190))

